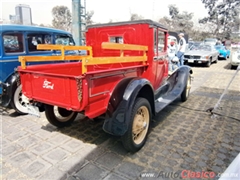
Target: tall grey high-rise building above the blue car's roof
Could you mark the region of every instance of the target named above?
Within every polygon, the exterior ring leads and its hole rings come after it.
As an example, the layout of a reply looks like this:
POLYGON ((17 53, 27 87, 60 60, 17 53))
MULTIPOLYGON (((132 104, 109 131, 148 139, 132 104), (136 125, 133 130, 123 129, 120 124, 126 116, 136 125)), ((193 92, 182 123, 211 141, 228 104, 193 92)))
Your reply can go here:
POLYGON ((32 11, 29 5, 17 5, 15 7, 15 16, 19 24, 32 25, 32 11))

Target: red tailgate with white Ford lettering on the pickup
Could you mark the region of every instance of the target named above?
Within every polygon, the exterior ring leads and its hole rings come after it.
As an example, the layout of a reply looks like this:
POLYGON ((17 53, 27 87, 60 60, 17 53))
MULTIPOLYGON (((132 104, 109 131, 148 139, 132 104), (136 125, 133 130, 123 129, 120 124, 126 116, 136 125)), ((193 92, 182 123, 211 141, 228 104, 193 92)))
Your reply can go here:
POLYGON ((76 78, 24 72, 20 76, 27 97, 67 109, 80 109, 76 78))

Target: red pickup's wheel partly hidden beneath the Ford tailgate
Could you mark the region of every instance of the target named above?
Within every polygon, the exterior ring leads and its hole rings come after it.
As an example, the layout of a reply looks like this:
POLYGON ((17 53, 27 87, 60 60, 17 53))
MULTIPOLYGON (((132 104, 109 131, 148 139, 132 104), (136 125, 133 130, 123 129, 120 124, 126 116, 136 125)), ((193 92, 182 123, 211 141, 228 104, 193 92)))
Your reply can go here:
POLYGON ((58 115, 54 111, 54 106, 45 105, 45 115, 49 123, 59 128, 71 125, 78 113, 57 106, 55 107, 57 108, 58 115))

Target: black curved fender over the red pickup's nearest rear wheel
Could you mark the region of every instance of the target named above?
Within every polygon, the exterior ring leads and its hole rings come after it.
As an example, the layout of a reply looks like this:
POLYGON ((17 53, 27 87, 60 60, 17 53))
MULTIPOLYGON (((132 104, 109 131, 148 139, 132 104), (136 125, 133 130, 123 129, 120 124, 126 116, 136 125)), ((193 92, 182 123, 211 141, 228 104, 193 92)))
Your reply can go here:
POLYGON ((135 78, 132 79, 125 87, 121 102, 116 110, 104 121, 103 130, 107 133, 122 136, 128 129, 128 122, 135 99, 143 87, 148 86, 151 89, 152 85, 147 79, 135 78))

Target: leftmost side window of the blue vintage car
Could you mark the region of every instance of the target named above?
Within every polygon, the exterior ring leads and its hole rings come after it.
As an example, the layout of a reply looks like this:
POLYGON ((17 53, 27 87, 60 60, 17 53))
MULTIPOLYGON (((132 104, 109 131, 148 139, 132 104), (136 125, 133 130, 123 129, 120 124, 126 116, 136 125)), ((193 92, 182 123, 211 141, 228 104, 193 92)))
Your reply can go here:
POLYGON ((23 35, 21 33, 4 33, 3 44, 6 54, 24 52, 23 35))

